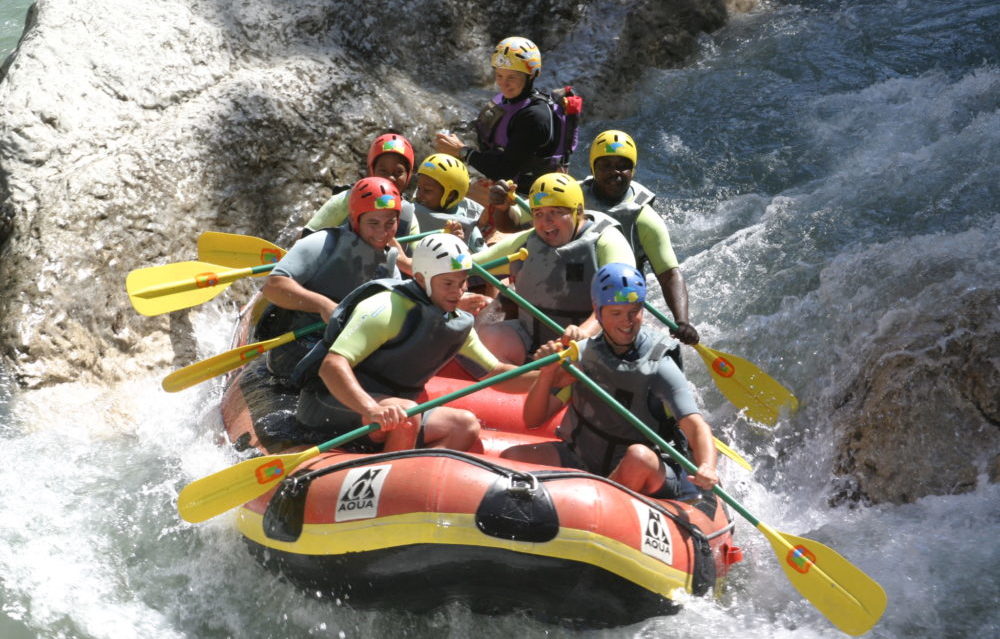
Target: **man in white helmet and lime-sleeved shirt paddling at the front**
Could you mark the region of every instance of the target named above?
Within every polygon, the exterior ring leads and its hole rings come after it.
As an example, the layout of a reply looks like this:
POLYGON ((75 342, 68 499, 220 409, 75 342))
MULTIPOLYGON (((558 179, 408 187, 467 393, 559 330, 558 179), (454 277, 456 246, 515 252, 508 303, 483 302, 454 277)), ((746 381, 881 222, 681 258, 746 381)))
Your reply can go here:
MULTIPOLYGON (((298 421, 330 437, 378 423, 379 430, 348 446, 355 451, 472 447, 479 420, 469 411, 442 406, 406 416, 452 357, 477 379, 513 368, 483 346, 472 315, 458 309, 471 267, 462 240, 431 235, 413 249, 412 280, 369 282, 345 298, 323 341, 296 368, 298 421)), ((535 377, 533 371, 495 388, 525 393, 535 377)))

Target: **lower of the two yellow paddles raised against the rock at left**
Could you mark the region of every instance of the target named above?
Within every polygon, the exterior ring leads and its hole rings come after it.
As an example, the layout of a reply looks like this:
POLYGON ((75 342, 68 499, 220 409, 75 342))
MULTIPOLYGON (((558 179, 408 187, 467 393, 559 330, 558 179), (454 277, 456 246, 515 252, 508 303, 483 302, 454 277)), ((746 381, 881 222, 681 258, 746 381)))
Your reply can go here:
MULTIPOLYGON (((400 243, 415 242, 440 232, 440 229, 436 229, 397 240, 400 243)), ((211 262, 177 262, 130 272, 125 280, 125 290, 135 310, 148 316, 161 315, 204 304, 236 280, 266 275, 272 269, 274 263, 225 270, 219 264, 211 262)))

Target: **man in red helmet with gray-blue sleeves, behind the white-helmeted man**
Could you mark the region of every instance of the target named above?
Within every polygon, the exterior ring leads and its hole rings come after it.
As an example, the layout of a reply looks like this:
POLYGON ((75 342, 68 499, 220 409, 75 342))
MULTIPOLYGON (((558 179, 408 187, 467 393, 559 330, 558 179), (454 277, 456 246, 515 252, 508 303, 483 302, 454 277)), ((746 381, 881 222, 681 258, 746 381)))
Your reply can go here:
MULTIPOLYGON (((398 249, 392 240, 401 205, 402 197, 389 180, 359 180, 350 190, 348 222, 302 238, 267 276, 261 294, 272 306, 265 310, 255 337, 269 339, 320 320, 328 322, 337 303, 358 286, 399 277, 398 249)), ((268 351, 268 370, 287 378, 318 339, 306 335, 268 351)))

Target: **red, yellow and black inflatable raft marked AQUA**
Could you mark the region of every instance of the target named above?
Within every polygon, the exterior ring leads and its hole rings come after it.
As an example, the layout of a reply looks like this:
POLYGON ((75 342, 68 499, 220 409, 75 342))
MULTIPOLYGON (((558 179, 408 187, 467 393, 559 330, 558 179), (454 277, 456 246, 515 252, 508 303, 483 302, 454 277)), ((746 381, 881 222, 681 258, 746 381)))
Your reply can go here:
MULTIPOLYGON (((296 424, 296 395, 262 360, 228 380, 230 441, 271 454, 329 439, 296 424)), ((427 397, 468 383, 449 365, 427 397)), ((474 452, 323 453, 243 505, 238 528, 264 566, 360 608, 461 601, 480 613, 610 626, 674 612, 678 591, 720 584, 740 552, 715 495, 655 500, 582 471, 500 459, 511 445, 553 437, 559 416, 529 432, 521 400, 485 389, 450 404, 482 421, 474 452)))

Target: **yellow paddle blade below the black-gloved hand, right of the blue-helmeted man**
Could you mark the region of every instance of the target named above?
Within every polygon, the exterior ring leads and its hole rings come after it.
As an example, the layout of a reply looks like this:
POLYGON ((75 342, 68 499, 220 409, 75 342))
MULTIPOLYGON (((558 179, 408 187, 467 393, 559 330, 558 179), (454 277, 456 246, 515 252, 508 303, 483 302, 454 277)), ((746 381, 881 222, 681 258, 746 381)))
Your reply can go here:
POLYGON ((795 412, 799 400, 791 391, 775 381, 751 362, 703 344, 695 344, 719 390, 737 408, 755 422, 774 426, 781 409, 795 412))

